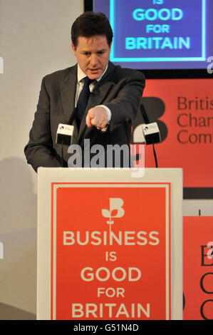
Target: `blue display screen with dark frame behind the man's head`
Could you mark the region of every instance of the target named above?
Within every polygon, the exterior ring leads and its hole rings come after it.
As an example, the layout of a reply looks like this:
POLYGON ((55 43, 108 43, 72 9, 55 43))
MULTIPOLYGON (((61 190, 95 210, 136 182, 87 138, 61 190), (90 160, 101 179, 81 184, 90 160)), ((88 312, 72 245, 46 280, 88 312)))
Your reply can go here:
POLYGON ((94 0, 113 28, 110 61, 141 69, 206 69, 212 0, 94 0))

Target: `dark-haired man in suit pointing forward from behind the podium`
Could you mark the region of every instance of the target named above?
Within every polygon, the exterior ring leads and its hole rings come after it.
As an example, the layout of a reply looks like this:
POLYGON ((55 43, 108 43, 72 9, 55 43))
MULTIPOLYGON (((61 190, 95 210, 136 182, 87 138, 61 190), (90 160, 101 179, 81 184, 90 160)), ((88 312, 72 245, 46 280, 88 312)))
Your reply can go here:
POLYGON ((56 143, 59 123, 74 125, 72 144, 81 148, 85 139, 90 140, 90 148, 102 145, 105 153, 108 145, 130 144, 145 77, 109 61, 113 31, 104 14, 80 15, 73 23, 71 39, 78 63, 45 76, 41 83, 37 111, 24 148, 27 162, 35 171, 40 166, 68 166, 69 146, 61 148, 56 143), (85 110, 80 110, 78 102, 86 80, 90 95, 85 110))

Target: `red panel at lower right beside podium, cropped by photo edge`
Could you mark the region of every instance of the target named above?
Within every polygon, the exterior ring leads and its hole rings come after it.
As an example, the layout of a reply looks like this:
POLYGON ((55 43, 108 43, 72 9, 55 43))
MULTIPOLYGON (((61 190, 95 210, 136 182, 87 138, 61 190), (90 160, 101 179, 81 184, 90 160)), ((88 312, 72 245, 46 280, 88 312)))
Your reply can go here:
POLYGON ((185 320, 213 319, 213 217, 184 217, 185 320))

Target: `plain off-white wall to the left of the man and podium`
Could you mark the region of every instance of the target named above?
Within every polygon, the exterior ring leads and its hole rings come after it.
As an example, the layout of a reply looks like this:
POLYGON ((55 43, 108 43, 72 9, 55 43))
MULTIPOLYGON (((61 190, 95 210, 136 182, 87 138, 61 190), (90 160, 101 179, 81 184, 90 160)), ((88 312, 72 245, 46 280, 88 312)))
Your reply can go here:
POLYGON ((41 79, 76 63, 70 30, 82 12, 83 0, 0 0, 0 319, 36 318, 37 185, 24 146, 41 79))

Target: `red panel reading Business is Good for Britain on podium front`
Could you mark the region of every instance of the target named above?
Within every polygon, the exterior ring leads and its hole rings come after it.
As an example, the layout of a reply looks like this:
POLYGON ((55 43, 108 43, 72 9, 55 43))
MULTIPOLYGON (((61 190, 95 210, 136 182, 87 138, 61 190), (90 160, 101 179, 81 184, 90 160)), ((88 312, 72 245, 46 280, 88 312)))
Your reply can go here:
POLYGON ((52 196, 53 319, 170 318, 170 184, 56 183, 52 196))

